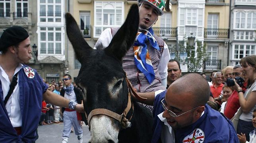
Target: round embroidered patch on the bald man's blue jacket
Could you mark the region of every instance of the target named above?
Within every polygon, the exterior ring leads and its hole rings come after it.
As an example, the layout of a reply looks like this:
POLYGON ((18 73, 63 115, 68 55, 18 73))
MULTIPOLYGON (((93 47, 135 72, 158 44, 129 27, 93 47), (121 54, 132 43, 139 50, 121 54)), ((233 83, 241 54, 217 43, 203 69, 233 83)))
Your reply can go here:
POLYGON ((204 142, 204 132, 200 128, 196 128, 189 135, 184 137, 183 143, 203 143, 204 142))

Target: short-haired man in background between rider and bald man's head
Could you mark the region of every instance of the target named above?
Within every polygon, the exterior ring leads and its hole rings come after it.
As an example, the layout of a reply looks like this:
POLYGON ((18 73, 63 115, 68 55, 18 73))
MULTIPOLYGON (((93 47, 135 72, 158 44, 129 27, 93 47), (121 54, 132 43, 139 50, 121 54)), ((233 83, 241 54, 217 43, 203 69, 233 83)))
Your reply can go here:
MULTIPOLYGON (((176 79, 180 78, 181 70, 180 70, 180 63, 177 60, 169 60, 167 64, 167 88, 174 82, 176 79)), ((167 89, 166 88, 166 89, 167 89)))

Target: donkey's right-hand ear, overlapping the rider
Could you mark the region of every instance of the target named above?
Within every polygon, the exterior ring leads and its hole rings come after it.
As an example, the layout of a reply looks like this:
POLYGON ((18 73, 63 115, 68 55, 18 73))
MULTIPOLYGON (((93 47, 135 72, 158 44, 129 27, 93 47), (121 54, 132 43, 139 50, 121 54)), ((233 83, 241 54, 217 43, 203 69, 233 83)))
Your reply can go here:
POLYGON ((120 29, 114 35, 111 43, 105 49, 107 54, 114 55, 118 60, 122 60, 122 57, 130 49, 139 27, 139 8, 137 4, 133 4, 127 15, 126 21, 120 27, 120 29))

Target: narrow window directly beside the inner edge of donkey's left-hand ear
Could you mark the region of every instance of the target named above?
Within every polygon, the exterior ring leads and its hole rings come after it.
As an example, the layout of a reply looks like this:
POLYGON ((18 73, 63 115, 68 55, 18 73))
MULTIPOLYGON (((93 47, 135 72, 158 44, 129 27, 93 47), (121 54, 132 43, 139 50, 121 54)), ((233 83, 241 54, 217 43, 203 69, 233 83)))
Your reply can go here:
POLYGON ((83 38, 91 37, 90 18, 90 11, 80 12, 80 29, 83 34, 83 38))

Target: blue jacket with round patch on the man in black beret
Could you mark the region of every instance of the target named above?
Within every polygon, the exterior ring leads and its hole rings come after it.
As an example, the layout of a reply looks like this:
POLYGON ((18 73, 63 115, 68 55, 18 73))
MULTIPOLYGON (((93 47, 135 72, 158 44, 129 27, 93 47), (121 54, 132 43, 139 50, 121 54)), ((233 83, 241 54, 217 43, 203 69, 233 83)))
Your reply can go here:
POLYGON ((23 68, 18 72, 19 105, 22 116, 21 135, 17 135, 9 119, 4 105, 2 83, 0 81, 0 143, 21 143, 22 141, 31 143, 35 141, 41 116, 42 95, 48 86, 43 83, 37 71, 30 70, 26 75, 25 68, 26 70, 31 69, 23 65, 23 68))

